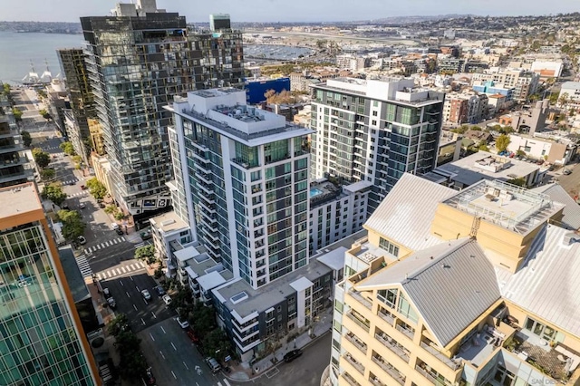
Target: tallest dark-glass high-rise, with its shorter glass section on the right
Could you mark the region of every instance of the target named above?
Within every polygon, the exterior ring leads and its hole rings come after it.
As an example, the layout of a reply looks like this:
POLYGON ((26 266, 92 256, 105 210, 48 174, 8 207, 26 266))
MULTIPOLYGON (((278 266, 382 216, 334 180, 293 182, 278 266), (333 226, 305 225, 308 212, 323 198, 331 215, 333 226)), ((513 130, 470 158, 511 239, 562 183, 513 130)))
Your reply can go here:
POLYGON ((136 223, 167 211, 172 179, 163 109, 190 90, 243 85, 241 33, 190 30, 185 16, 154 0, 120 4, 111 16, 82 17, 87 71, 111 195, 136 223))

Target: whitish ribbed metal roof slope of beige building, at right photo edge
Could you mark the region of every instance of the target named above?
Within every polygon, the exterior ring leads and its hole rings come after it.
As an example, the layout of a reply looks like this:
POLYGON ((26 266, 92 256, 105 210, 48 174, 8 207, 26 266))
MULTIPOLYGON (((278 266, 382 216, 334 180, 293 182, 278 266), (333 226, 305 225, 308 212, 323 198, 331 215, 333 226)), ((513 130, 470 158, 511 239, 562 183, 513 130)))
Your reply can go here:
POLYGON ((580 336, 580 236, 575 235, 575 241, 565 246, 564 237, 570 233, 562 227, 546 227, 536 236, 517 273, 501 267, 496 271, 505 298, 580 336))

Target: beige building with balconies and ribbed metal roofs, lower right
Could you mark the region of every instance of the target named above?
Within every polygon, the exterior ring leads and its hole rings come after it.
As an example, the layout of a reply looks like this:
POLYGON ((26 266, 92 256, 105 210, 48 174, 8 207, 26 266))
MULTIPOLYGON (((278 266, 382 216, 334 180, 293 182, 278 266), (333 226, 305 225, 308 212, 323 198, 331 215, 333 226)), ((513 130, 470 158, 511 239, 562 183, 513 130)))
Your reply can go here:
POLYGON ((578 384, 580 237, 557 226, 577 212, 404 174, 346 252, 330 383, 578 384))

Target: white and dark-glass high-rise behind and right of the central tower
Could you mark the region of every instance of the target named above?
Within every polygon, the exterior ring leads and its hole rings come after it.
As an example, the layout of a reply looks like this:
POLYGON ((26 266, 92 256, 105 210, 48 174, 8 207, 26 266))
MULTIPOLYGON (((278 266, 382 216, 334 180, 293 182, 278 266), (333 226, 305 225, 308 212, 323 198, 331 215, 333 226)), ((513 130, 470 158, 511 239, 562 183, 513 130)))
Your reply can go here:
POLYGON ((444 94, 412 79, 340 78, 313 86, 312 177, 369 181, 369 213, 404 172, 435 167, 444 94))

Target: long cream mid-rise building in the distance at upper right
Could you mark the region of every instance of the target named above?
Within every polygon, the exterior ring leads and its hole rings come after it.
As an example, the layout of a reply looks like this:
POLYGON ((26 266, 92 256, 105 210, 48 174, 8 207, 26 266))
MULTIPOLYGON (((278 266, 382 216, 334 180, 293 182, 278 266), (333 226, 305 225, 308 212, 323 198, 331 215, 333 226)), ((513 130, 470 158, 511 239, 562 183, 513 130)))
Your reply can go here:
POLYGON ((515 101, 526 101, 537 90, 540 75, 525 69, 492 67, 484 72, 473 74, 473 84, 492 81, 499 87, 514 89, 515 101))

